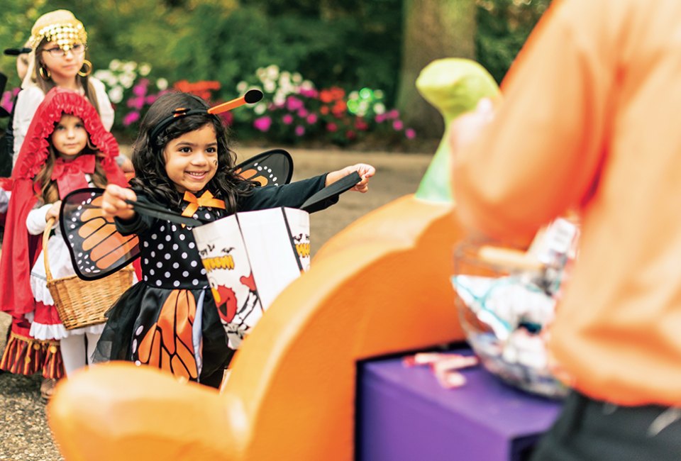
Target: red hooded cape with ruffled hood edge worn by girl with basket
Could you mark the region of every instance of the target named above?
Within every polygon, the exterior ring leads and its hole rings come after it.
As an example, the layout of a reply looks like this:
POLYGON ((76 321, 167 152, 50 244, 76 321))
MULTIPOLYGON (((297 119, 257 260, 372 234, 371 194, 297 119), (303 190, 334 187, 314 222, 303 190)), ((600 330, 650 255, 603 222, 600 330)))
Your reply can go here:
POLYGON ((34 184, 33 178, 45 164, 48 140, 63 113, 82 119, 92 145, 105 156, 100 162, 107 181, 124 187, 128 185, 123 171, 116 165, 118 143, 102 126, 94 106, 74 91, 51 89, 35 111, 12 172, 12 195, 0 260, 0 310, 13 317, 21 317, 35 309, 29 276, 39 254, 39 236, 28 234, 26 218, 40 194, 41 184, 34 184))

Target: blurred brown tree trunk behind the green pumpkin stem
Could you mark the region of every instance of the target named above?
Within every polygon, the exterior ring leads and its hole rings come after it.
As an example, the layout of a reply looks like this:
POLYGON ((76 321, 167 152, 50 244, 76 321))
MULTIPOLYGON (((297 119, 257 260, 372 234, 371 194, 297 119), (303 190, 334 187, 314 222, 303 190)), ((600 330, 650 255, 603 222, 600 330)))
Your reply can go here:
POLYGON ((475 0, 404 0, 402 69, 397 107, 421 138, 439 138, 443 119, 416 90, 419 72, 443 57, 475 58, 475 0))

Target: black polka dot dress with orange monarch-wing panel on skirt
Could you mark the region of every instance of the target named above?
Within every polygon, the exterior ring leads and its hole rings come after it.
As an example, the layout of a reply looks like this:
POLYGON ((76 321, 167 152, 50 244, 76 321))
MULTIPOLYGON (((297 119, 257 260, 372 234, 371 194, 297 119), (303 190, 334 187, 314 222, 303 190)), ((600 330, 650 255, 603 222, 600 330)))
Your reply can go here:
MULTIPOLYGON (((326 174, 284 186, 257 187, 239 199, 238 211, 297 208, 325 181, 326 174)), ((147 201, 140 194, 138 199, 147 201)), ((336 201, 337 197, 329 199, 319 209, 336 201)), ((193 217, 212 222, 224 216, 223 209, 199 206, 193 217)), ((140 237, 142 280, 107 313, 95 361, 131 360, 199 382, 221 374, 233 350, 227 347, 192 228, 140 213, 131 221, 116 220, 116 227, 123 235, 140 237)))

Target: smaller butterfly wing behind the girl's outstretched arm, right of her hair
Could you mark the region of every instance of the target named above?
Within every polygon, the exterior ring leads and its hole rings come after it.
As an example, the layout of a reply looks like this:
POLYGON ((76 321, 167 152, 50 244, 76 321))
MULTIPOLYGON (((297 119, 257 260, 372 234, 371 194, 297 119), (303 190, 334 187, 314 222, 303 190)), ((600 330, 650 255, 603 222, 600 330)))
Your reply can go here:
POLYGON ((267 150, 236 165, 234 172, 261 186, 289 184, 293 177, 293 159, 286 150, 267 150))

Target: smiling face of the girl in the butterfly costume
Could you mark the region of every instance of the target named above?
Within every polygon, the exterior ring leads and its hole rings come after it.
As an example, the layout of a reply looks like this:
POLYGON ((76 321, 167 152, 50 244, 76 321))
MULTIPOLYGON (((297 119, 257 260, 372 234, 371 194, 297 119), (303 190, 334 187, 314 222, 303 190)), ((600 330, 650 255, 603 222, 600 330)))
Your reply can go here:
POLYGON ((165 172, 183 194, 201 191, 218 170, 218 140, 209 123, 170 140, 163 149, 165 172))

